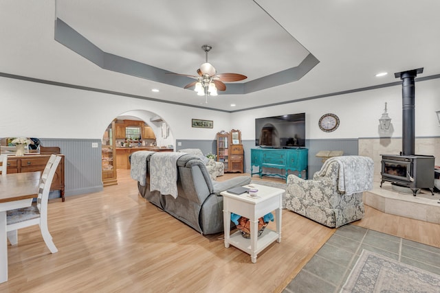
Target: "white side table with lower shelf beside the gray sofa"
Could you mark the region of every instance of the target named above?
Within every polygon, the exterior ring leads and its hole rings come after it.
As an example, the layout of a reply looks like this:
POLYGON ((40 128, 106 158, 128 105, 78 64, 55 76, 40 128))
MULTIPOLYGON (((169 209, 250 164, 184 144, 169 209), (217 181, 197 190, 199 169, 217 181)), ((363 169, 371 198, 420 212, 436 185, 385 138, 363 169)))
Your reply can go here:
POLYGON ((246 193, 236 195, 230 194, 228 191, 221 192, 223 196, 225 248, 228 248, 231 244, 250 254, 252 263, 256 263, 256 255, 263 249, 275 240, 278 243, 281 242, 282 196, 285 190, 256 184, 245 185, 244 187, 259 189, 258 197, 252 198, 246 193), (276 231, 266 227, 261 236, 258 237, 259 218, 272 211, 276 211, 276 231), (250 239, 244 238, 240 231, 230 235, 231 213, 236 213, 250 220, 250 239))

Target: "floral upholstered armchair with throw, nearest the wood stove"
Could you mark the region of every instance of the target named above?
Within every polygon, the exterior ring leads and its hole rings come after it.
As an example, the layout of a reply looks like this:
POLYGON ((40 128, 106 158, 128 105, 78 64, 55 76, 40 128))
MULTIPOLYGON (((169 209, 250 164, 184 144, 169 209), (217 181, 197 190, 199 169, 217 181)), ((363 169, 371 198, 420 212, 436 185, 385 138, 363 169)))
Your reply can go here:
POLYGON ((336 156, 313 180, 287 177, 286 208, 331 228, 364 217, 363 191, 373 188, 373 160, 366 156, 336 156))

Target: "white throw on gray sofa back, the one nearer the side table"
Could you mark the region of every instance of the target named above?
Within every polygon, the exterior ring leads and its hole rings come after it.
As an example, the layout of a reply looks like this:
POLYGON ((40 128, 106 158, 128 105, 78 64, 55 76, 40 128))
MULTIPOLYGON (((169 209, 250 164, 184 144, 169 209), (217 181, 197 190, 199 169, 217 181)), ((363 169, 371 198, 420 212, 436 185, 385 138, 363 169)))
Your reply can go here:
POLYGON ((177 198, 177 159, 184 152, 157 152, 150 159, 150 191, 177 198))

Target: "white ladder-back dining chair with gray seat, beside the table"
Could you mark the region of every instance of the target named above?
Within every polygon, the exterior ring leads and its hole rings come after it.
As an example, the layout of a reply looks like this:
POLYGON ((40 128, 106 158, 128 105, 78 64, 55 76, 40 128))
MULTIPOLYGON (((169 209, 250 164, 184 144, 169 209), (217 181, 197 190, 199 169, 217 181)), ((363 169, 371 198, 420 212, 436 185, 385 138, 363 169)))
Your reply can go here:
POLYGON ((41 175, 36 202, 33 202, 30 207, 14 209, 6 213, 6 231, 8 232, 8 239, 11 245, 18 243, 17 230, 19 228, 38 224, 47 248, 49 248, 51 253, 58 251, 52 241, 49 228, 47 228, 47 202, 49 200, 50 185, 52 185, 52 179, 60 161, 61 156, 56 155, 51 156, 49 161, 47 161, 46 168, 41 175))

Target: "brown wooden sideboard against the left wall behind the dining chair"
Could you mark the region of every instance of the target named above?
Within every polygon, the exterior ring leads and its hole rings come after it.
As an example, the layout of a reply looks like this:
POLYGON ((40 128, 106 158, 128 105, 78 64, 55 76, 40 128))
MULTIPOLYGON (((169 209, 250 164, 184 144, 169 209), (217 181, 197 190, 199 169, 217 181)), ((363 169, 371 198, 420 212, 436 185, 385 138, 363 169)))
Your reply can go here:
MULTIPOLYGON (((58 148, 59 150, 59 148, 58 148)), ((64 155, 60 154, 61 161, 56 168, 50 190, 59 190, 64 201, 64 155)), ((24 156, 8 156, 8 173, 43 172, 49 161, 50 154, 28 154, 24 156)))

